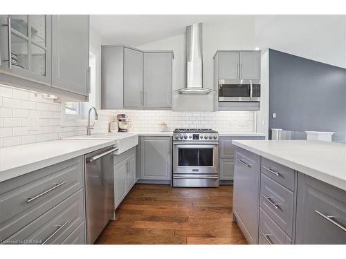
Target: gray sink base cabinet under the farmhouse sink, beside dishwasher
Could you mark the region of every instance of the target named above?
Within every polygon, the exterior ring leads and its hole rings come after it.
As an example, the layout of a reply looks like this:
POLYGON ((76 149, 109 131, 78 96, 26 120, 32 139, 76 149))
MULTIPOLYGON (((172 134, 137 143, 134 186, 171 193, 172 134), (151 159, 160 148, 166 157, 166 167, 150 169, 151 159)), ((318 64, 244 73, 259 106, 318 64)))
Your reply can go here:
POLYGON ((114 200, 117 208, 137 181, 136 148, 114 157, 114 200))

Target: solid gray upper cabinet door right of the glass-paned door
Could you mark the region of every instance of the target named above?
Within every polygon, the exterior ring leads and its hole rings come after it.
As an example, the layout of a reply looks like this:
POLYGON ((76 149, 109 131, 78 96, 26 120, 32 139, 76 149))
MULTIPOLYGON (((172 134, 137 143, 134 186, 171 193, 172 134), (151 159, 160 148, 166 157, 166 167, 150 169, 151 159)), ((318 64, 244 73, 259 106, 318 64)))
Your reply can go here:
POLYGON ((89 95, 89 15, 53 15, 52 85, 89 95))

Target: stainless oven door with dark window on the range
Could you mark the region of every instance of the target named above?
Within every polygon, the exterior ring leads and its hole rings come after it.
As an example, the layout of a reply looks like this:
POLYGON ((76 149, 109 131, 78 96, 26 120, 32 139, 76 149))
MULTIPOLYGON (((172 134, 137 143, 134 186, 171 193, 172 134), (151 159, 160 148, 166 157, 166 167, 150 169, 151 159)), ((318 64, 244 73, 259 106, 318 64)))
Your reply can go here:
POLYGON ((173 142, 173 173, 219 173, 218 142, 173 142))

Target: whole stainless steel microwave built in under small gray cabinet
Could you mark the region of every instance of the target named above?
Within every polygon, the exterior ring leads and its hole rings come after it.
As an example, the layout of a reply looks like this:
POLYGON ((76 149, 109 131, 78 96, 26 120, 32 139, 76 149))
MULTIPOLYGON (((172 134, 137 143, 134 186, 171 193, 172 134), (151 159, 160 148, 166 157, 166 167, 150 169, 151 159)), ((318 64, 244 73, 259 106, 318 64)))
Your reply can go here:
POLYGON ((258 79, 219 79, 219 102, 260 102, 260 98, 258 79))

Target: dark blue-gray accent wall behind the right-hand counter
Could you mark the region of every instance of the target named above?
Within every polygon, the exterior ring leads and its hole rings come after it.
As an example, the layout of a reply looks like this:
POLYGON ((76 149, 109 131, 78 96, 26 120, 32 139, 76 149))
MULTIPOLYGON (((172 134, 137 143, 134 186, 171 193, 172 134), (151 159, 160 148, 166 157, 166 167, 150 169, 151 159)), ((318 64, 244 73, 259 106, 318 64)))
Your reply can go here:
POLYGON ((345 143, 346 69, 270 49, 271 128, 334 131, 333 141, 345 143))

